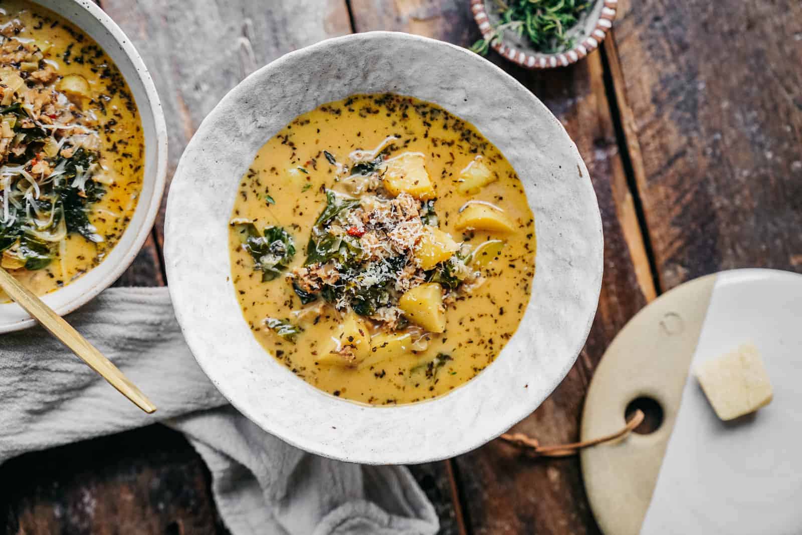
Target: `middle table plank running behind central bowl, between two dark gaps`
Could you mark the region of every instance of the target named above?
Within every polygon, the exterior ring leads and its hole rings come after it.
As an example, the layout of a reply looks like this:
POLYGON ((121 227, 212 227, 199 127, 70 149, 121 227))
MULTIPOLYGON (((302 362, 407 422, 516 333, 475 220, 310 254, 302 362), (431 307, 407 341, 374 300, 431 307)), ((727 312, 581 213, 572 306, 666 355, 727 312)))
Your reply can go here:
MULTIPOLYGON (((404 30, 462 46, 479 37, 468 2, 460 0, 351 0, 351 6, 358 31, 404 30)), ((654 283, 618 154, 600 56, 547 72, 525 71, 495 55, 488 59, 562 121, 588 164, 602 210, 605 276, 588 344, 557 391, 514 428, 542 444, 571 442, 578 439, 593 368, 618 329, 654 298, 654 283)), ((457 458, 455 468, 468 533, 598 533, 576 459, 532 460, 496 440, 457 458)))

